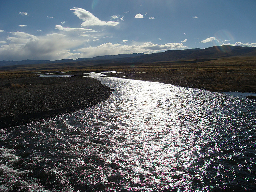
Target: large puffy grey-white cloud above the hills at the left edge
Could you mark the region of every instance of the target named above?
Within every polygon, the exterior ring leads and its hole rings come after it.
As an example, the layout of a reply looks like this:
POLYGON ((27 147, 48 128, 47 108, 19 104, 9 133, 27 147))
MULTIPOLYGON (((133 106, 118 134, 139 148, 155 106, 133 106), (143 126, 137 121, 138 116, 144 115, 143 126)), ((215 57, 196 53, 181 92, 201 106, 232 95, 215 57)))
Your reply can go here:
POLYGON ((57 60, 80 57, 80 53, 72 53, 72 47, 81 46, 85 41, 74 40, 62 34, 34 36, 24 32, 11 32, 9 42, 0 46, 0 58, 3 60, 57 60))

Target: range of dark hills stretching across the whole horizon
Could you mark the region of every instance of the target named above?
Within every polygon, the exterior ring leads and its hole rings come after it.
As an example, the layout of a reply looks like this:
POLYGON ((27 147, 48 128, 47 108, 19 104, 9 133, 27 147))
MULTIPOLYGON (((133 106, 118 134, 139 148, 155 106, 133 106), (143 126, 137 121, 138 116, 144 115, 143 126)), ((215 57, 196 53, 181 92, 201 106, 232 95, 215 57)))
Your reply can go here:
POLYGON ((153 54, 119 54, 104 55, 93 58, 49 60, 25 60, 25 61, 0 61, 0 70, 46 70, 65 67, 86 67, 95 65, 122 65, 125 63, 154 63, 165 61, 189 61, 202 62, 227 57, 256 56, 256 47, 240 46, 213 46, 205 49, 167 50, 153 54), (21 68, 20 66, 23 66, 21 68), (2 66, 2 67, 1 67, 2 66))

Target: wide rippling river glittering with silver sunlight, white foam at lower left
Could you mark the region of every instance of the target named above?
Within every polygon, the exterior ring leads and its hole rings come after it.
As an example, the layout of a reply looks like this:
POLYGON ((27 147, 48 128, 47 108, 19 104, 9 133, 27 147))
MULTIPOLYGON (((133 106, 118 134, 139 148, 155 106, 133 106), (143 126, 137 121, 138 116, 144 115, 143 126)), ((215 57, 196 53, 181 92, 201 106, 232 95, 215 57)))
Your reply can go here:
POLYGON ((93 107, 0 130, 0 191, 254 191, 256 101, 101 77, 93 107))

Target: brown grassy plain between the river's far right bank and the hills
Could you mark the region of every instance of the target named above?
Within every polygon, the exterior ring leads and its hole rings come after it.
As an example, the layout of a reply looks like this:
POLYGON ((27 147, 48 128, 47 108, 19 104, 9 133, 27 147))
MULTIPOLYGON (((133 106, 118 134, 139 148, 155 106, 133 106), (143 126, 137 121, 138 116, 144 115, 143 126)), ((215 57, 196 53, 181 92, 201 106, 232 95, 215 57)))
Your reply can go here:
MULTIPOLYGON (((33 65, 32 72, 40 72, 33 65)), ((24 74, 31 70, 27 67, 24 74)), ((169 61, 155 63, 108 63, 93 67, 65 67, 41 71, 45 72, 81 72, 116 71, 109 76, 162 82, 177 86, 194 87, 214 92, 239 91, 256 92, 256 57, 231 57, 211 61, 169 61)), ((3 78, 0 72, 0 78, 3 78)), ((11 76, 16 72, 9 72, 11 76)), ((4 74, 6 76, 6 74, 4 74)))

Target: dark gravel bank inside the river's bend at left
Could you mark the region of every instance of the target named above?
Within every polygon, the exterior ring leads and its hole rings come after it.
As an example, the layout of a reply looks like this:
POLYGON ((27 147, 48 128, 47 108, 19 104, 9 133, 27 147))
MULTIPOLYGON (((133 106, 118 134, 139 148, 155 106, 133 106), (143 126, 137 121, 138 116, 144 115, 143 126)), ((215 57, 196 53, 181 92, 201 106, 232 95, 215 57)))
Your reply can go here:
POLYGON ((111 90, 89 77, 30 77, 0 81, 0 128, 87 108, 111 90))

